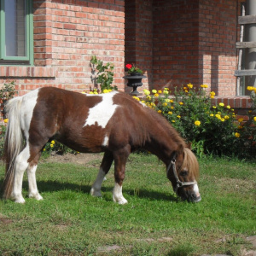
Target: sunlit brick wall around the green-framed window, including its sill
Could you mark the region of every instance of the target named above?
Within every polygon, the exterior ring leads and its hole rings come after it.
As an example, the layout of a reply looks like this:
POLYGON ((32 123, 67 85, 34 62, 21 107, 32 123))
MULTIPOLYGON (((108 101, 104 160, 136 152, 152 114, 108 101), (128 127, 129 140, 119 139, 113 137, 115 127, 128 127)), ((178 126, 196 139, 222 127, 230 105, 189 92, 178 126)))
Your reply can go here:
POLYGON ((33 0, 35 67, 1 67, 0 84, 15 79, 19 94, 53 85, 89 90, 90 58, 113 62, 124 89, 125 0, 33 0))

